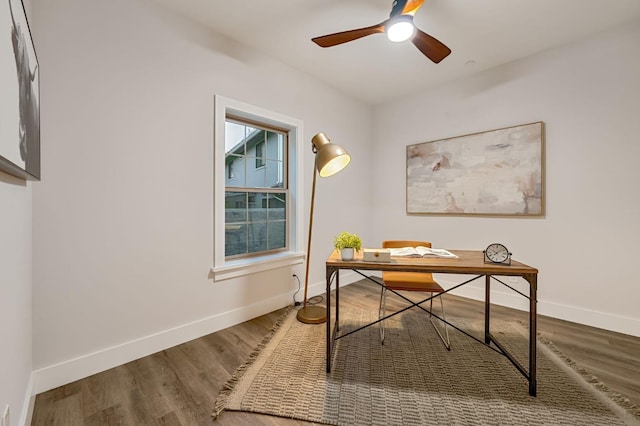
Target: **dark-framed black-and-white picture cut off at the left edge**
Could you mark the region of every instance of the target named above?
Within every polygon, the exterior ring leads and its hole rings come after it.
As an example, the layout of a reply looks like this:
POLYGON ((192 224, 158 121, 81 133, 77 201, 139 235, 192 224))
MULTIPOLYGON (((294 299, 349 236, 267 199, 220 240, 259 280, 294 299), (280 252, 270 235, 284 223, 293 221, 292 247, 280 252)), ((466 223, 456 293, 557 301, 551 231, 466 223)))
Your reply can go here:
POLYGON ((0 170, 40 180, 40 79, 21 0, 0 0, 0 170))

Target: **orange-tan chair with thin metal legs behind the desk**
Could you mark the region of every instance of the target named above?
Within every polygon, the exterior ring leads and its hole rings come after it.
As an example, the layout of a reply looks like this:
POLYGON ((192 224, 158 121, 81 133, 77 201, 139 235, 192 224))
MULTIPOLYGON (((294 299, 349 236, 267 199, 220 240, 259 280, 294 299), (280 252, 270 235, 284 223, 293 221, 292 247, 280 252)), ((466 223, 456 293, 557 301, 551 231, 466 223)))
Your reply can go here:
MULTIPOLYGON (((382 242, 382 248, 402 248, 417 246, 431 247, 431 243, 428 241, 407 240, 386 240, 382 242)), ((380 310, 378 318, 383 318, 386 316, 387 289, 395 291, 419 291, 423 293, 429 293, 430 296, 433 296, 434 293, 442 293, 444 291, 440 284, 438 284, 433 279, 433 275, 426 272, 383 271, 382 281, 384 281, 384 286, 382 287, 382 290, 380 292, 380 310)), ((446 320, 442 296, 438 297, 438 299, 440 299, 442 318, 446 320)), ((429 302, 429 311, 431 312, 433 310, 433 299, 431 299, 429 302)), ((440 336, 440 340, 442 340, 444 346, 447 349, 451 350, 451 343, 449 341, 449 329, 447 328, 447 323, 444 323, 444 333, 446 335, 445 339, 445 337, 442 335, 442 332, 433 322, 431 313, 429 313, 429 320, 431 321, 433 328, 438 333, 438 336, 440 336)), ((380 342, 384 344, 384 321, 380 321, 380 342)))

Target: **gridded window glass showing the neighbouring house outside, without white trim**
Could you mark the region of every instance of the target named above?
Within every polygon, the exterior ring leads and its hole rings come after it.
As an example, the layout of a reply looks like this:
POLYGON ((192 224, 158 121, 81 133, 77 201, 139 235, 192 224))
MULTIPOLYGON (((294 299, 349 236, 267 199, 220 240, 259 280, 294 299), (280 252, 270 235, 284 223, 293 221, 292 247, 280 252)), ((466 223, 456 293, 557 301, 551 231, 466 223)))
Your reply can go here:
POLYGON ((225 257, 287 249, 287 132, 225 121, 225 257))

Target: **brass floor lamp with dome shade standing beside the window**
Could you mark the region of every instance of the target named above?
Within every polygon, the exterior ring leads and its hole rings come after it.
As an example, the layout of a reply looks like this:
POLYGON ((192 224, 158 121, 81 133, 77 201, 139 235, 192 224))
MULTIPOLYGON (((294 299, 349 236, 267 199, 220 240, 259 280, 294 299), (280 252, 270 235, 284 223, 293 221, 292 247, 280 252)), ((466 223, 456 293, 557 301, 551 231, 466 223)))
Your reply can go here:
POLYGON ((313 186, 311 189, 311 212, 309 213, 309 238, 307 240, 307 270, 304 276, 304 302, 298 310, 298 321, 305 324, 320 324, 327 320, 327 308, 324 306, 307 306, 309 289, 309 261, 311 259, 311 231, 313 230, 313 205, 316 198, 316 175, 329 177, 347 167, 351 156, 339 145, 332 144, 324 133, 318 133, 311 139, 315 165, 313 167, 313 186))

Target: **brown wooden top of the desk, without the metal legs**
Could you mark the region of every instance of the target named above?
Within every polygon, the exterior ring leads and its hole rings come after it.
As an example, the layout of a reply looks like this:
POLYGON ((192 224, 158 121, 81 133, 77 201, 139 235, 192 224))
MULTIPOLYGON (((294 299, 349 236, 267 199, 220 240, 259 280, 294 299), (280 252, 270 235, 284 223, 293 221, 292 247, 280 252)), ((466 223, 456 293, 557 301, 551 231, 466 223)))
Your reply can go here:
POLYGON ((327 268, 361 269, 374 271, 435 272, 478 275, 537 275, 538 270, 511 259, 511 265, 484 263, 480 250, 449 250, 458 258, 444 257, 392 257, 391 262, 365 262, 362 251, 353 260, 341 260, 334 250, 327 259, 327 268))

